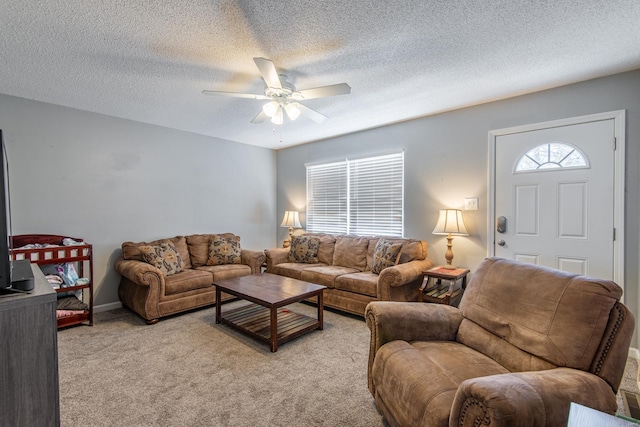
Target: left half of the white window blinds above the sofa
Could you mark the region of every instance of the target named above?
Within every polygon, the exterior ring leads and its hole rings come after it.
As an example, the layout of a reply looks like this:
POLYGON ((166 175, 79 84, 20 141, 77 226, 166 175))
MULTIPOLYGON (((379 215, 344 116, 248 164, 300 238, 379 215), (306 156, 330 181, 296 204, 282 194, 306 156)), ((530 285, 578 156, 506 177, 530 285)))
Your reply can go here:
POLYGON ((347 163, 307 166, 307 231, 347 233, 347 163))

